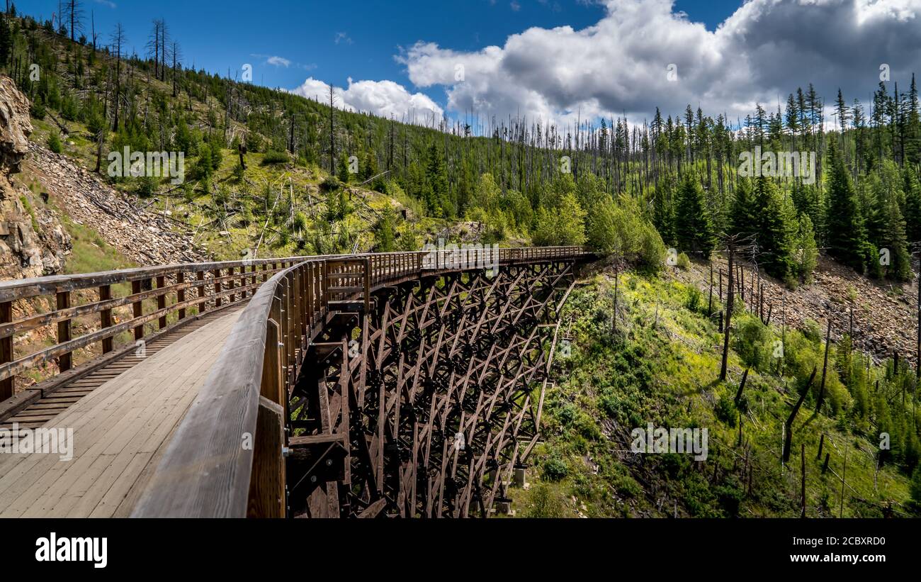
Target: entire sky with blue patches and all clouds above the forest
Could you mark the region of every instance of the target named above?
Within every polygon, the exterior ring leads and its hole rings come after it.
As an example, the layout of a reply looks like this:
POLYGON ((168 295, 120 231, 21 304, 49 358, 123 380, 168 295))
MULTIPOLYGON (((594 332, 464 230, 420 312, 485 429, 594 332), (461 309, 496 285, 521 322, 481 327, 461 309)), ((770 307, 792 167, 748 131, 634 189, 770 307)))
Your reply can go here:
MULTIPOLYGON (((122 22, 143 53, 151 20, 162 17, 187 66, 233 76, 251 64, 254 83, 308 97, 332 83, 341 106, 398 119, 423 111, 636 120, 687 104, 735 119, 755 103, 773 110, 809 83, 829 100, 841 87, 845 99, 866 102, 883 64, 900 87, 921 68, 921 0, 83 4, 101 41, 122 22)), ((57 6, 17 2, 43 18, 57 6)))

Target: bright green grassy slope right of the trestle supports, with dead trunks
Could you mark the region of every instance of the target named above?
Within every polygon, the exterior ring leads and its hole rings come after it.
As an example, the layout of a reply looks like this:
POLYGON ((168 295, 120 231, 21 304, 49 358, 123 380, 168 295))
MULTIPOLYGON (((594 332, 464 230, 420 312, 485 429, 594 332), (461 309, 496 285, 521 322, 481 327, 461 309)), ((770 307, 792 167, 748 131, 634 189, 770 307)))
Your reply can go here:
MULTIPOLYGON (((563 329, 570 355, 555 366, 530 488, 512 489, 519 515, 799 517, 801 445, 810 518, 915 511, 910 475, 918 462, 919 415, 909 370, 894 372, 887 362, 867 371, 860 356, 833 345, 826 403, 814 413, 823 354, 817 326, 806 334, 787 330, 781 378, 773 356, 782 331, 740 308, 729 381, 719 382, 722 334, 705 315, 707 297, 669 274, 621 274, 614 332, 613 295, 612 274, 604 273, 569 298, 563 329), (819 376, 793 424, 792 454, 782 466, 784 422, 816 365, 819 376), (843 380, 845 370, 867 377, 843 380), (903 387, 909 390, 904 405, 903 387), (707 459, 631 452, 631 431, 647 423, 706 427, 707 459), (892 449, 880 450, 880 432, 892 435, 892 449), (829 466, 822 471, 826 453, 829 466)), ((915 500, 921 501, 918 484, 915 500)))

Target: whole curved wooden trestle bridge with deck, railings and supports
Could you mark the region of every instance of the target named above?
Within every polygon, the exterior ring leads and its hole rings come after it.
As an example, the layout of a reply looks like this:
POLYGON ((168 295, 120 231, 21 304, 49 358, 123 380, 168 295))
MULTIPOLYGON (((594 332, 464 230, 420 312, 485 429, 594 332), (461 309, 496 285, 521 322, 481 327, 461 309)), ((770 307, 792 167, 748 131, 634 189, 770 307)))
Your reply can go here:
POLYGON ((486 517, 538 442, 558 313, 589 258, 438 250, 0 283, 0 445, 73 434, 66 460, 0 454, 0 517, 486 517))

